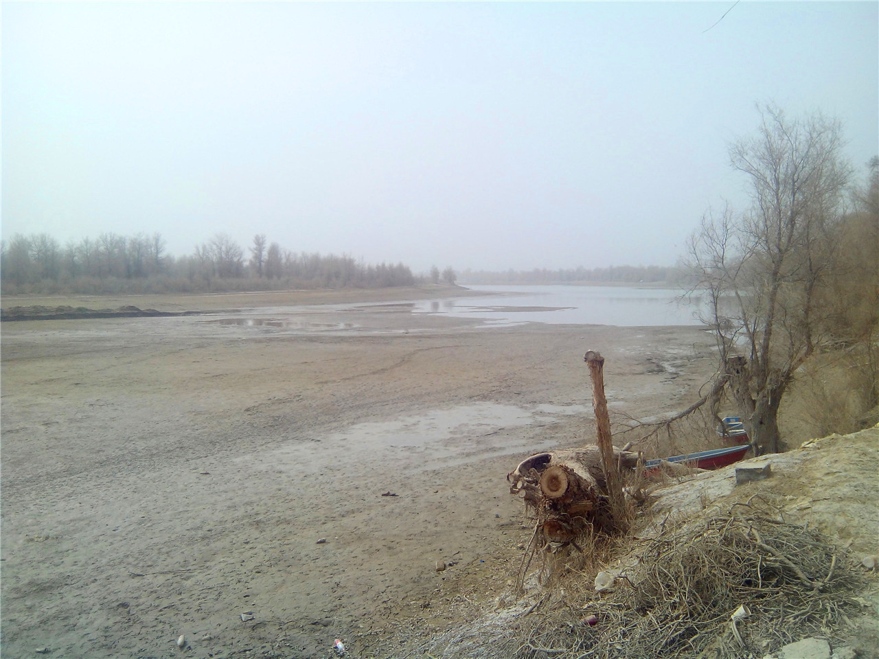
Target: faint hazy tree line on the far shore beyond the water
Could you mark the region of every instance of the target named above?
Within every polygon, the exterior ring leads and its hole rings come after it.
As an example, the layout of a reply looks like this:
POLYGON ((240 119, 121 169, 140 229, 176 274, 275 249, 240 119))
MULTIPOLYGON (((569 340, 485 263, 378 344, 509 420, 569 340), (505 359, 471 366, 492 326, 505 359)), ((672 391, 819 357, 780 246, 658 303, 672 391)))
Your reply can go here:
POLYGON ((598 284, 675 284, 680 279, 677 268, 659 265, 612 265, 607 268, 574 268, 572 270, 537 269, 527 271, 508 270, 485 272, 465 270, 461 272, 462 284, 574 284, 581 282, 598 284))

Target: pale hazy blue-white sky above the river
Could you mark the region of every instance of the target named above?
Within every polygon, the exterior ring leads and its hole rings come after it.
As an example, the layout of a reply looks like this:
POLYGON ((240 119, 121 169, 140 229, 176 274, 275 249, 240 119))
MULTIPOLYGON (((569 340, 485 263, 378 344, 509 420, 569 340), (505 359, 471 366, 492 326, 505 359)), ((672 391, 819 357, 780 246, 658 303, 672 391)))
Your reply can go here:
POLYGON ((3 236, 673 264, 755 102, 879 153, 879 4, 3 4, 3 236))

